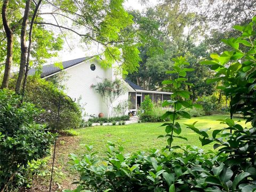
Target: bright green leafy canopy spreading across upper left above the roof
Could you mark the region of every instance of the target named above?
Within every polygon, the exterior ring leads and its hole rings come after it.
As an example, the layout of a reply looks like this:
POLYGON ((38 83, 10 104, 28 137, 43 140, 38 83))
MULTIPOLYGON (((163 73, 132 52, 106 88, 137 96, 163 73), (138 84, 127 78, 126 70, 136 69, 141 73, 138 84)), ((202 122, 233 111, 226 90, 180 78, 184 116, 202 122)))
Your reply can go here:
POLYGON ((45 59, 55 56, 62 48, 63 41, 67 40, 67 31, 79 35, 81 43, 101 45, 105 50, 101 62, 103 67, 110 67, 111 63, 117 61, 123 63, 125 74, 137 70, 139 42, 135 39, 137 34, 134 31, 126 30, 133 20, 132 15, 125 11, 123 0, 4 0, 1 6, 4 32, 0 35, 5 51, 0 54, 1 60, 6 61, 2 87, 7 87, 10 68, 14 63, 20 66, 15 89, 19 93, 20 80, 26 79, 28 63, 30 66, 42 64, 45 59), (63 20, 65 25, 61 25, 60 21, 63 20), (6 52, 9 54, 6 55, 6 52))

